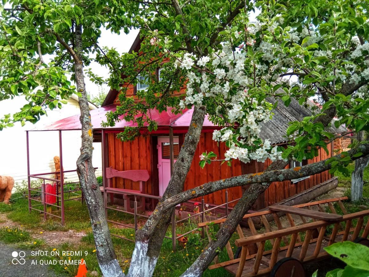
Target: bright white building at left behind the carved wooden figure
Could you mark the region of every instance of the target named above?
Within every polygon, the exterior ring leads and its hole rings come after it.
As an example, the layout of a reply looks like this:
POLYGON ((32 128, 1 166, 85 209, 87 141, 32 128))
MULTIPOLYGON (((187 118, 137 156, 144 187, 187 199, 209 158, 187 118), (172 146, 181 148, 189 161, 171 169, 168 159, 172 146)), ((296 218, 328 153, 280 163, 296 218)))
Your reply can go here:
MULTIPOLYGON (((15 98, 0 102, 1 114, 14 112, 25 104, 23 98, 15 98)), ((90 110, 97 109, 89 104, 90 110)), ((15 124, 14 127, 0 132, 0 175, 9 175, 15 182, 21 184, 27 181, 26 132, 25 130, 42 129, 42 126, 64 117, 79 113, 78 97, 73 95, 67 100, 62 109, 47 109, 47 115, 41 116, 36 124, 27 122, 24 127, 15 124)), ((76 160, 80 155, 80 131, 63 133, 64 170, 76 169, 76 160)), ((100 144, 95 147, 96 157, 101 156, 100 144)), ((58 132, 30 132, 30 170, 32 174, 52 172, 54 156, 59 156, 58 132)), ((101 175, 101 158, 95 158, 95 167, 99 167, 97 174, 101 175)), ((65 182, 77 181, 75 172, 65 174, 65 182)), ((16 187, 16 186, 15 186, 16 187)), ((14 189, 13 189, 14 190, 14 189)))

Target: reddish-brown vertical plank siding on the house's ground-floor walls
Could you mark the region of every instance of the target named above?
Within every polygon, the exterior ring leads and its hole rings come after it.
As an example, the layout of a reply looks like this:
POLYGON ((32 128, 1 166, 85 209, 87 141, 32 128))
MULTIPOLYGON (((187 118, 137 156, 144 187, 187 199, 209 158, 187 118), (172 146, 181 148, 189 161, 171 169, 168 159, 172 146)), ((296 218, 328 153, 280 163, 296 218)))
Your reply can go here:
MULTIPOLYGON (((183 139, 183 136, 182 136, 183 139)), ((122 142, 115 137, 115 134, 108 133, 108 155, 109 155, 109 166, 117 170, 131 170, 131 169, 147 169, 149 174, 152 176, 152 168, 156 170, 156 165, 151 165, 151 149, 154 149, 154 155, 157 155, 156 146, 150 146, 150 136, 140 136, 136 140, 131 142, 122 142)), ((180 144, 182 141, 180 141, 180 144)), ((330 147, 328 147, 329 150, 330 147)), ((186 181, 184 183, 184 190, 198 187, 206 182, 217 181, 220 179, 229 178, 232 176, 241 175, 248 173, 256 173, 266 170, 270 165, 271 161, 267 160, 265 163, 258 163, 251 161, 248 164, 243 164, 236 160, 232 162, 232 166, 229 167, 227 163, 221 164, 221 162, 213 162, 210 165, 206 165, 203 169, 199 166, 200 155, 203 152, 213 151, 221 159, 224 158, 226 147, 224 143, 218 144, 212 140, 212 133, 202 133, 200 137, 199 145, 197 146, 194 160, 192 161, 190 170, 187 174, 186 181)), ((325 153, 323 149, 320 150, 320 156, 313 160, 308 160, 308 163, 315 163, 316 161, 324 160, 330 157, 325 153)), ((286 167, 289 168, 289 165, 286 167)), ((154 172, 154 175, 157 174, 154 172)), ((253 209, 258 210, 265 208, 268 205, 272 205, 276 202, 282 201, 285 198, 293 196, 305 189, 311 188, 314 185, 320 184, 321 182, 327 181, 331 178, 328 171, 320 174, 312 175, 310 178, 304 179, 300 182, 292 184, 291 181, 284 182, 273 182, 270 187, 259 196, 255 202, 253 209)), ((151 179, 147 182, 148 193, 151 193, 151 179)), ((156 183, 156 182, 155 182, 156 183)), ((127 188, 137 189, 138 184, 132 184, 128 180, 113 180, 113 186, 115 188, 127 188)), ((158 184, 153 184, 157 187, 158 184)), ((156 189, 154 189, 156 190, 156 189)), ((228 201, 240 198, 242 196, 242 188, 235 187, 228 189, 228 201)), ((201 201, 201 198, 193 199, 195 201, 201 201)), ((204 196, 204 200, 209 204, 220 205, 225 202, 225 190, 214 192, 213 194, 204 196)), ((236 202, 231 203, 229 206, 232 207, 236 202)))

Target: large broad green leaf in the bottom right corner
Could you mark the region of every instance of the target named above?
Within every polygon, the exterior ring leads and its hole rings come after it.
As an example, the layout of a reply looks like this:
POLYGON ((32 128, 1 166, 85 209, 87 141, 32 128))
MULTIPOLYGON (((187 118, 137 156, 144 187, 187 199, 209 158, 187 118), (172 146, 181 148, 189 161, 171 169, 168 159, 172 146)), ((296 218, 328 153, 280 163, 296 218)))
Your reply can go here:
POLYGON ((346 241, 324 247, 324 250, 355 269, 369 269, 369 247, 367 246, 346 241))

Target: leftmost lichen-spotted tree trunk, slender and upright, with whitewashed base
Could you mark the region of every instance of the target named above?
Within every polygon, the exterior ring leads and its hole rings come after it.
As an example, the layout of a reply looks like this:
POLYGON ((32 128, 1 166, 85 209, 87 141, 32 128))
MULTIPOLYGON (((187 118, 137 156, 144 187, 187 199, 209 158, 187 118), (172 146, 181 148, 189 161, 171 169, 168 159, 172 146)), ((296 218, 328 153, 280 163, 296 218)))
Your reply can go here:
POLYGON ((89 210, 92 232, 95 239, 97 260, 101 272, 106 277, 124 276, 117 256, 114 252, 110 231, 105 216, 104 201, 101 196, 99 184, 97 183, 95 171, 92 165, 92 124, 87 101, 85 79, 83 76, 82 62, 82 26, 76 27, 75 52, 78 60, 74 61, 75 81, 77 90, 81 93, 78 98, 81 111, 80 122, 82 125, 81 155, 77 160, 77 174, 85 196, 86 205, 89 210))

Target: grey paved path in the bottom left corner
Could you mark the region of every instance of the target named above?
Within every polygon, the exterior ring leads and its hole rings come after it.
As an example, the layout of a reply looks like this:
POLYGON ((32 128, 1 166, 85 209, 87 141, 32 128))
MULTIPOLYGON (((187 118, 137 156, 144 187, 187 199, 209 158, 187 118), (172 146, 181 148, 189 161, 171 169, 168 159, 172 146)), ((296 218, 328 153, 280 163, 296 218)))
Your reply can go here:
MULTIPOLYGON (((20 252, 22 249, 18 249, 11 244, 5 244, 0 242, 0 277, 55 277, 55 273, 48 269, 48 266, 31 264, 31 259, 27 259, 31 255, 31 250, 24 250, 25 263, 13 264, 14 257, 12 253, 14 251, 20 252)), ((21 254, 23 256, 23 254, 21 254)), ((20 260, 20 257, 16 257, 20 260)), ((22 260, 20 260, 23 262, 22 260)), ((17 261, 14 260, 14 263, 17 261)))

